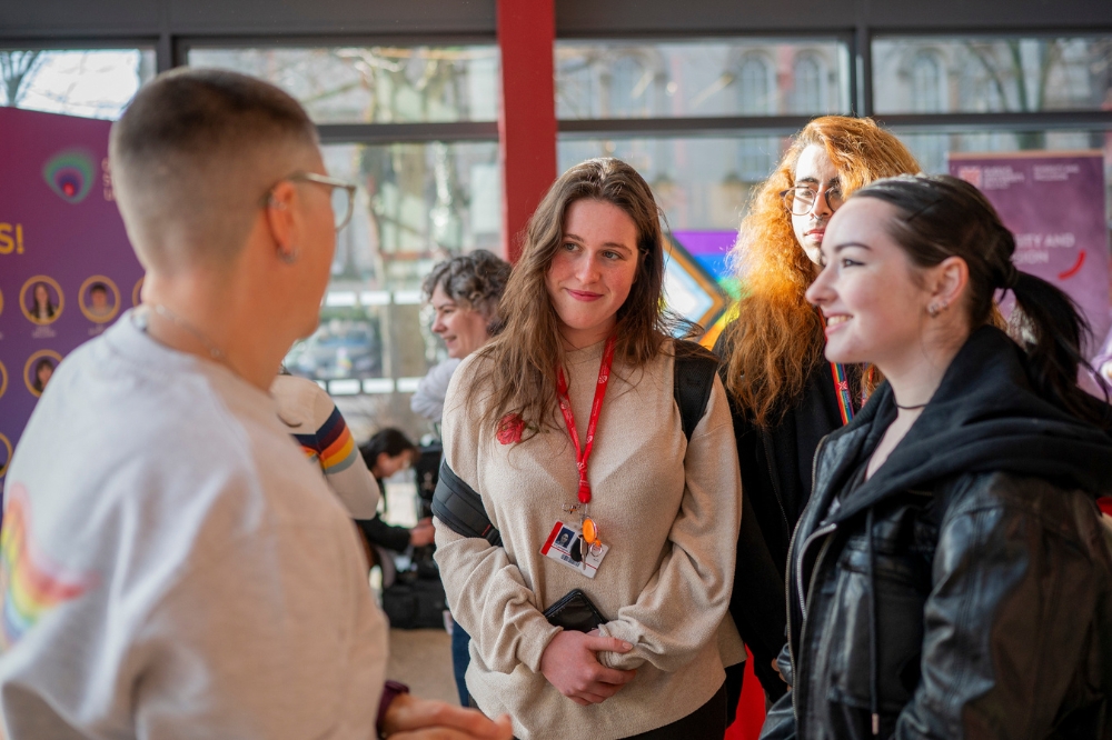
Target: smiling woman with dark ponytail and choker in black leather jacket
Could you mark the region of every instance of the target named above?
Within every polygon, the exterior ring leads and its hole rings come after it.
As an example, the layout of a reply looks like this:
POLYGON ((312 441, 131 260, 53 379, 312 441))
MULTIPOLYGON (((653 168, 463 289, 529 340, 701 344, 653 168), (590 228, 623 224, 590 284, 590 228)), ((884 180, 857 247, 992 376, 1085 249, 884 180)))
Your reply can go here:
POLYGON ((826 357, 887 381, 815 459, 791 547, 792 690, 763 738, 1112 738, 1110 408, 1069 299, 949 177, 835 214, 826 357), (1013 341, 990 326, 1010 289, 1013 341))

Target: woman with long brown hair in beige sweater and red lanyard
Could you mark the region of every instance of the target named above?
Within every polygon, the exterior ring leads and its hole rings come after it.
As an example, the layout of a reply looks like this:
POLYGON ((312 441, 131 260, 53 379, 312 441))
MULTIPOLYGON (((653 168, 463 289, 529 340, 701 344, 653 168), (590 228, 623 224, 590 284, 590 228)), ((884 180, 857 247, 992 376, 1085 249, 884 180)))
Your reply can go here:
POLYGON ((663 281, 645 180, 573 167, 529 222, 505 329, 448 390, 441 481, 477 493, 498 536, 438 516, 436 559, 471 634, 471 697, 520 738, 725 731, 723 668, 744 659, 726 613, 733 430, 712 377, 685 434, 663 281))

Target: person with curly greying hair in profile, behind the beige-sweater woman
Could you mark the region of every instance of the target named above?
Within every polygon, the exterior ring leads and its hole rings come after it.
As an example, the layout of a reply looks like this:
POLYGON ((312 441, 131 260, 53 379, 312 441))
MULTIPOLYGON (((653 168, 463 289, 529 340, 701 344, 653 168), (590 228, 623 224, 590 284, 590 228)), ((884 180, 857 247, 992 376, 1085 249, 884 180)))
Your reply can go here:
POLYGON ((485 249, 437 262, 421 289, 433 307, 433 333, 444 340, 448 359, 433 367, 409 400, 409 408, 435 424, 444 413, 444 394, 456 366, 498 332, 498 301, 510 264, 485 249))

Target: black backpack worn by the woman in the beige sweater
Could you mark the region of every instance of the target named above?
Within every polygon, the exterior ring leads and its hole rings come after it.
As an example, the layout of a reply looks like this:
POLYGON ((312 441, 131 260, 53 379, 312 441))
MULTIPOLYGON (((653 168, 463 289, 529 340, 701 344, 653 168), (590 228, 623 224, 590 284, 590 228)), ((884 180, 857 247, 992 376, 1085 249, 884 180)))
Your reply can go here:
MULTIPOLYGON (((684 437, 691 441, 695 427, 706 413, 714 376, 718 371, 718 358, 695 342, 676 340, 675 348, 673 392, 679 407, 684 437)), ((440 462, 440 477, 433 494, 433 514, 457 534, 481 537, 495 547, 502 546, 502 533, 490 523, 483 499, 448 467, 447 461, 440 462)))

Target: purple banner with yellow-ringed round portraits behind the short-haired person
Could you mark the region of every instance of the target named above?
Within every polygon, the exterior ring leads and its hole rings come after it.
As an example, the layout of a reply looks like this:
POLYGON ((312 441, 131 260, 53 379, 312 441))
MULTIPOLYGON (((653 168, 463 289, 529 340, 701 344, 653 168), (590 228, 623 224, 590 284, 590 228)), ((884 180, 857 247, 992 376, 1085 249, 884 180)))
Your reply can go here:
POLYGON ((53 369, 138 300, 142 268, 108 177, 110 128, 0 108, 0 487, 53 369))

